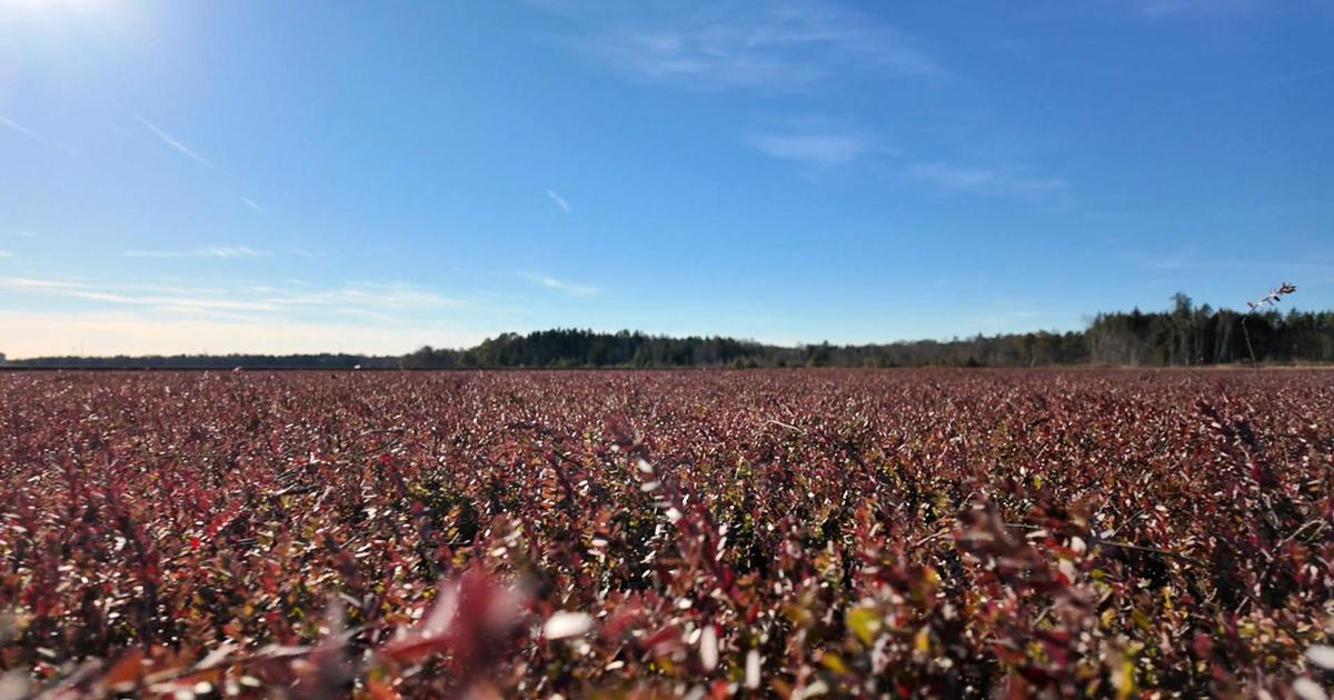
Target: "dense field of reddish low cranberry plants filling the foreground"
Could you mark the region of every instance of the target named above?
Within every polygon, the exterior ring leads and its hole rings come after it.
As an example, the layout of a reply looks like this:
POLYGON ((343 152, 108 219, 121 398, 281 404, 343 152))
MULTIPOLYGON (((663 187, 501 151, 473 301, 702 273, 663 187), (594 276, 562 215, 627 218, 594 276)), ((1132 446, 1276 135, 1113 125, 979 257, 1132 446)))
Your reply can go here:
POLYGON ((15 372, 0 396, 5 697, 1334 679, 1331 373, 15 372))

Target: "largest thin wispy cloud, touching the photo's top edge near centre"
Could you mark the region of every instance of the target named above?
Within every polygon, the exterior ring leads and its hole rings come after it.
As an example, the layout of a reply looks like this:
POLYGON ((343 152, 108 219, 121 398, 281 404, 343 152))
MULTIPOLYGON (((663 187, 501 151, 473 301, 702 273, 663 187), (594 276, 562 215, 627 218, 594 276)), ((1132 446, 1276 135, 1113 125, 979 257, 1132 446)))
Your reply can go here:
POLYGON ((892 77, 944 71, 898 29, 832 3, 687 3, 664 12, 558 11, 591 25, 570 40, 608 69, 700 88, 794 87, 842 69, 892 77), (591 15, 591 16, 590 16, 591 15))

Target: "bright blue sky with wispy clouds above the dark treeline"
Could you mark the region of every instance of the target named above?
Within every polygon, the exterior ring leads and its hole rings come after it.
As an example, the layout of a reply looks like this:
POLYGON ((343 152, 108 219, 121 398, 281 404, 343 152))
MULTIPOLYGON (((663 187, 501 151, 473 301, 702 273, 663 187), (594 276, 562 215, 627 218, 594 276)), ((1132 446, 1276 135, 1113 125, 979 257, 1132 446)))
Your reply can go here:
POLYGON ((1327 0, 0 0, 0 352, 1331 308, 1331 36, 1327 0))

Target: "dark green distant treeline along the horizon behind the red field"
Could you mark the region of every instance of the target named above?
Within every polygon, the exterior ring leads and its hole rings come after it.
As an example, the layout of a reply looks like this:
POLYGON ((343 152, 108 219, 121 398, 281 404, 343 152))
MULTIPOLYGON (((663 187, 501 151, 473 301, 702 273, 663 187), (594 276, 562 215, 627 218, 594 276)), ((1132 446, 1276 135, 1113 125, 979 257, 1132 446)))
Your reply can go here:
MULTIPOLYGON (((1177 295, 1171 311, 1099 313, 1083 332, 975 336, 872 345, 767 345, 730 337, 667 337, 580 329, 503 333, 466 349, 424 347, 396 356, 177 355, 40 357, 8 367, 161 369, 448 369, 562 367, 1042 367, 1114 364, 1182 367, 1249 361, 1334 361, 1334 311, 1245 315, 1195 307, 1177 295), (1247 337, 1250 347, 1247 347, 1247 337)), ((0 355, 0 363, 3 363, 0 355)))

